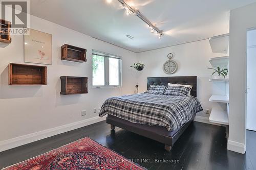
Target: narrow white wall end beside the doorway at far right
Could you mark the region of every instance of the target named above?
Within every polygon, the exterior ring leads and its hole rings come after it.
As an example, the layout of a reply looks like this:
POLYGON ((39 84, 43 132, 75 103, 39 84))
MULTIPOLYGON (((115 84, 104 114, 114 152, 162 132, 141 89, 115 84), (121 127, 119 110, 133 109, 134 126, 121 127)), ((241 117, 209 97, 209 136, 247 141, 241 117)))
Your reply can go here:
POLYGON ((256 3, 230 11, 228 149, 246 151, 246 30, 256 27, 256 3))

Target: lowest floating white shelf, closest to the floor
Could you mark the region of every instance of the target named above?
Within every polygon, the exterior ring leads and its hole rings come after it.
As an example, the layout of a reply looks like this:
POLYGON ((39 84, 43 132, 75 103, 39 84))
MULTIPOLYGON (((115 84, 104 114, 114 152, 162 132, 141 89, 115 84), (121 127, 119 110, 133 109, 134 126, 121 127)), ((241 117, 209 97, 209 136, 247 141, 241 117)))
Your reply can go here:
POLYGON ((212 108, 210 112, 209 122, 228 125, 228 115, 227 111, 219 110, 216 108, 212 108))

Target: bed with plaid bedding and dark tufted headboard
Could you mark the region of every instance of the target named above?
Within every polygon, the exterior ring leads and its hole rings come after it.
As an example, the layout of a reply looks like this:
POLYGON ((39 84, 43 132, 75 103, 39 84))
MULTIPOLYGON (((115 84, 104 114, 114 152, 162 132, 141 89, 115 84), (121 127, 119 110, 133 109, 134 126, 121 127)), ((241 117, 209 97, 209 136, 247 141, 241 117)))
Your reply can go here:
POLYGON ((170 151, 202 111, 196 97, 196 76, 147 78, 146 92, 106 100, 99 116, 108 114, 106 123, 112 130, 119 127, 151 138, 170 151))

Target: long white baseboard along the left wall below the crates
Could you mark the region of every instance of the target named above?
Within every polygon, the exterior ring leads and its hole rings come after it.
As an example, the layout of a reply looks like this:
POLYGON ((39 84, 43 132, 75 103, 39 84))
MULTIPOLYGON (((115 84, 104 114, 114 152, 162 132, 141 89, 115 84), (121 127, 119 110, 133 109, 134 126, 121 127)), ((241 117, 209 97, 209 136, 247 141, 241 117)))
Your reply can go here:
POLYGON ((105 120, 105 117, 92 117, 89 119, 84 119, 81 120, 79 122, 74 122, 71 124, 67 124, 67 125, 62 125, 59 127, 55 127, 55 128, 51 128, 51 129, 47 129, 47 130, 43 130, 43 131, 39 131, 39 132, 35 132, 35 133, 31 133, 31 134, 27 134, 24 136, 19 136, 19 137, 15 137, 12 139, 8 139, 8 140, 4 140, 4 141, 0 141, 0 152, 2 151, 6 151, 12 148, 16 148, 19 147, 21 145, 27 144, 27 143, 31 143, 37 140, 41 140, 47 137, 51 137, 60 133, 64 133, 64 132, 68 132, 74 129, 78 129, 84 126, 88 126, 91 124, 95 124, 97 122, 101 122, 103 120, 105 120))

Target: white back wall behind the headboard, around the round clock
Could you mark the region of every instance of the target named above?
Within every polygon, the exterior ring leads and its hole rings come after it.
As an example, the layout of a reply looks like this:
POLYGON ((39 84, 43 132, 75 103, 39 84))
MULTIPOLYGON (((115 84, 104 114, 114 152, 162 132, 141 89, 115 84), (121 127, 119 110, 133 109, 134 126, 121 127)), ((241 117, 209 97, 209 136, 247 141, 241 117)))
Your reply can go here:
MULTIPOLYGON (((207 70, 207 68, 211 67, 209 58, 220 56, 224 56, 224 54, 212 53, 208 40, 139 53, 138 61, 145 64, 145 68, 139 72, 138 76, 139 90, 140 92, 146 90, 147 77, 197 76, 198 99, 200 100, 203 109, 211 109, 213 106, 225 109, 224 104, 208 102, 211 94, 226 94, 225 83, 209 82, 212 71, 207 70), (178 70, 173 75, 167 75, 162 70, 163 63, 168 60, 168 53, 173 53, 173 60, 178 63, 178 70)), ((209 116, 208 114, 205 114, 205 110, 197 115, 204 117, 209 116)))

